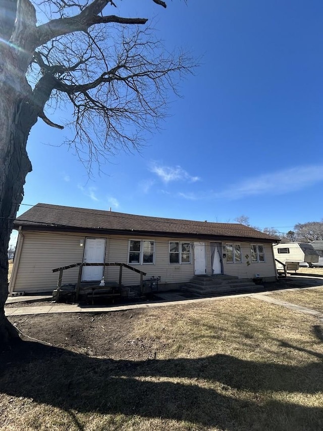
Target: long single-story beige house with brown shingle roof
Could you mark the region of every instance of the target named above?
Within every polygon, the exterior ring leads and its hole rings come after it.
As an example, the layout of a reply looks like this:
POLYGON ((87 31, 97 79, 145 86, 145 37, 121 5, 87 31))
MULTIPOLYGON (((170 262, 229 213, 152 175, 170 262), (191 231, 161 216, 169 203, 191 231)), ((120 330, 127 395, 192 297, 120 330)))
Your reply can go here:
MULTIPOLYGON (((13 292, 56 289, 52 269, 80 262, 123 263, 160 277, 159 290, 178 289, 194 275, 228 274, 276 280, 274 237, 238 223, 179 220, 37 204, 14 222, 16 256, 9 283, 13 292)), ((85 266, 82 281, 119 279, 114 266, 85 266)), ((64 271, 63 284, 75 283, 78 268, 64 271)), ((139 284, 125 270, 124 286, 139 284)))

